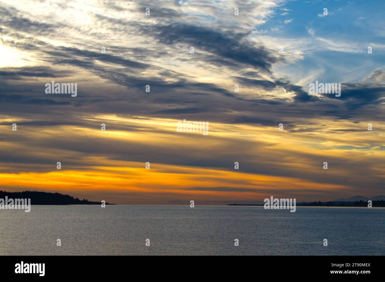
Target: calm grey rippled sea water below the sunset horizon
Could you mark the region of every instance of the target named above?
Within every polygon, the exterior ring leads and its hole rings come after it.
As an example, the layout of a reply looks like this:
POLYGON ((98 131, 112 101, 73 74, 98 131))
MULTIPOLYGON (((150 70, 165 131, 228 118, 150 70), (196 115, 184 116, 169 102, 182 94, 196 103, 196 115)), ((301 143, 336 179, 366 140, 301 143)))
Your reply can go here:
POLYGON ((384 212, 33 205, 29 213, 0 210, 0 255, 384 255, 384 212))

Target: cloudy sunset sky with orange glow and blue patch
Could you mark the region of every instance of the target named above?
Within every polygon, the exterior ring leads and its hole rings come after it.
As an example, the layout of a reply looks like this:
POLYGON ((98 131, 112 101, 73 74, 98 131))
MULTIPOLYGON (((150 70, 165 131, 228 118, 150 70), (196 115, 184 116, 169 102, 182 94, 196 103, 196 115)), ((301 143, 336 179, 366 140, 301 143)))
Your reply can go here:
POLYGON ((0 190, 186 205, 381 195, 384 8, 0 0, 0 190), (52 81, 76 97, 46 93, 52 81), (311 93, 316 81, 341 96, 311 93), (208 134, 178 132, 184 119, 208 134))

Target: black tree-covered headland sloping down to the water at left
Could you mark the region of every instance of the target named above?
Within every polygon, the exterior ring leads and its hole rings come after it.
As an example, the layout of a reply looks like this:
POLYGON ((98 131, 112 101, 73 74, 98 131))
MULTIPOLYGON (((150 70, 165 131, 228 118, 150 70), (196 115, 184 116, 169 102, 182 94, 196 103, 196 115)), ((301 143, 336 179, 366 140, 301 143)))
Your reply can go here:
MULTIPOLYGON (((91 202, 89 200, 74 198, 70 195, 60 193, 23 191, 23 192, 5 192, 0 191, 0 198, 5 199, 31 199, 31 205, 101 205, 101 202, 91 202)), ((106 205, 110 205, 105 203, 106 205)))

